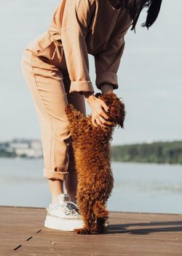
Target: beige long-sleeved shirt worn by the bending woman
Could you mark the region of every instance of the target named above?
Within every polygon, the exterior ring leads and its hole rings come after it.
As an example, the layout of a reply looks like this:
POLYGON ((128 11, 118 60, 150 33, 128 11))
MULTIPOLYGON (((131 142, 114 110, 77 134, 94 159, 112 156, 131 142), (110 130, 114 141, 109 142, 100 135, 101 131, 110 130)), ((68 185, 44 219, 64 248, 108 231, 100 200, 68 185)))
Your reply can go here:
POLYGON ((118 89, 116 72, 124 50, 124 34, 132 20, 108 0, 62 0, 49 30, 60 35, 72 91, 95 92, 90 80, 88 53, 95 59, 95 84, 118 89))

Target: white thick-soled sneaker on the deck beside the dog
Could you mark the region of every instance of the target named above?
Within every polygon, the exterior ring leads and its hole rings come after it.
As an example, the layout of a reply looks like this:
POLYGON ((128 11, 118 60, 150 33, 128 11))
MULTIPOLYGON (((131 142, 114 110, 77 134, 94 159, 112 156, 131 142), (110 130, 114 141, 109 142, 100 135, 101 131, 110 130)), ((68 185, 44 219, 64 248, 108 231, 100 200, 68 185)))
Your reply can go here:
POLYGON ((84 225, 76 203, 68 201, 68 194, 58 195, 58 203, 50 203, 44 227, 56 230, 73 231, 84 225))

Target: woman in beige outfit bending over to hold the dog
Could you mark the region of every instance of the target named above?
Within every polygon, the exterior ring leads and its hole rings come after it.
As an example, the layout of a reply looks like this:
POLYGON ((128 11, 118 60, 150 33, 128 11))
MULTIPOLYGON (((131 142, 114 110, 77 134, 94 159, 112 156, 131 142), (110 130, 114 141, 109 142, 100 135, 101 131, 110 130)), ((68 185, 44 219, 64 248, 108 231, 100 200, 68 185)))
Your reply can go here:
POLYGON ((66 105, 72 103, 86 115, 86 99, 93 126, 105 129, 110 124, 108 106, 94 96, 88 53, 95 58, 97 88, 103 94, 118 89, 116 72, 124 50, 124 35, 130 26, 135 29, 144 7, 148 14, 143 26, 149 29, 161 3, 162 0, 62 0, 47 31, 25 48, 21 67, 39 117, 44 177, 52 195, 46 227, 82 227, 76 206, 77 182, 66 105))

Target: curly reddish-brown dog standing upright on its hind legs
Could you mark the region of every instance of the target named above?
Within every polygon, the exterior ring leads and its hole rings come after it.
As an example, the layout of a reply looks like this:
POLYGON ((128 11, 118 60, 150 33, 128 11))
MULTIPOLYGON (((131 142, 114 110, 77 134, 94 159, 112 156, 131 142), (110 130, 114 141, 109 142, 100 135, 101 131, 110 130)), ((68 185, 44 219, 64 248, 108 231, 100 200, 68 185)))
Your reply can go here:
MULTIPOLYGON (((84 221, 84 227, 75 229, 75 233, 100 233, 106 230, 108 211, 106 203, 114 187, 114 178, 110 164, 112 134, 118 124, 124 126, 124 103, 113 91, 107 94, 95 94, 108 106, 108 129, 94 127, 92 116, 84 116, 74 105, 66 106, 66 115, 70 122, 70 132, 76 164, 78 186, 76 201, 84 221)), ((104 110, 105 111, 105 110, 104 110)))

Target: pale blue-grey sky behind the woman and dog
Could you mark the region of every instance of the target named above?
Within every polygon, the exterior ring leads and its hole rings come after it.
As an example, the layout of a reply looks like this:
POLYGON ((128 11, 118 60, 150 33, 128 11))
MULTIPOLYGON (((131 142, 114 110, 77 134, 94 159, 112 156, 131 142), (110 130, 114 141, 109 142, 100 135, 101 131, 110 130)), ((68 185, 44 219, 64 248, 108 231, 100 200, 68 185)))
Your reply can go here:
MULTIPOLYGON (((2 0, 1 0, 2 1, 2 0)), ((0 141, 40 139, 39 120, 20 59, 28 43, 46 31, 58 0, 3 1, 0 10, 0 141)), ((112 145, 182 140, 182 1, 164 0, 156 23, 149 30, 127 31, 117 72, 127 115, 124 129, 116 128, 112 145)), ((94 57, 89 55, 95 93, 94 57)), ((87 105, 87 114, 91 113, 87 105)))

